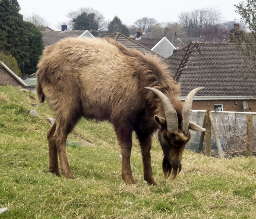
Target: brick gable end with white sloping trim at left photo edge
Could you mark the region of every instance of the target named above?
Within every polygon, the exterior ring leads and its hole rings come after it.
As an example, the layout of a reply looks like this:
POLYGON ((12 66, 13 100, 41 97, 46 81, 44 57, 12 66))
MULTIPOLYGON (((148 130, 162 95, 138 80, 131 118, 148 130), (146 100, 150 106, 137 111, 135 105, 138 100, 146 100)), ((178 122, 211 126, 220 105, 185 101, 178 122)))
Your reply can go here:
POLYGON ((27 84, 18 77, 11 69, 9 69, 2 61, 0 61, 0 85, 27 87, 27 84))

